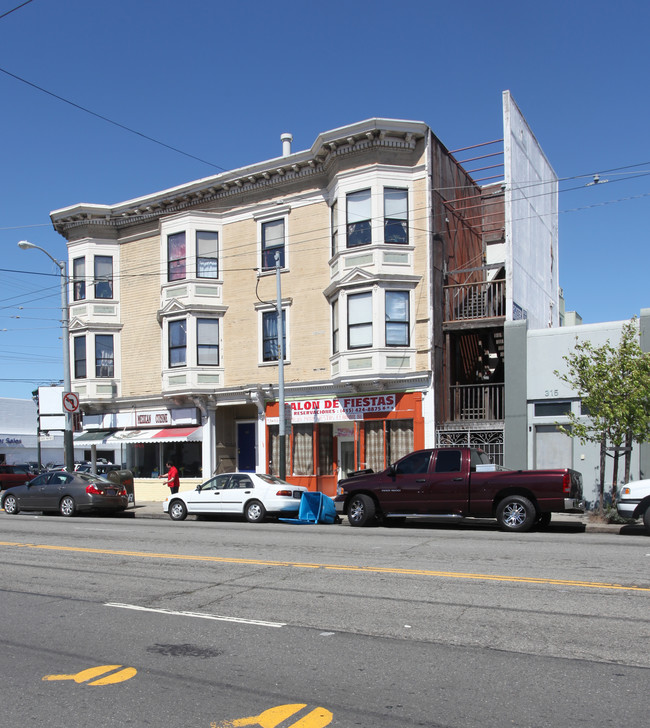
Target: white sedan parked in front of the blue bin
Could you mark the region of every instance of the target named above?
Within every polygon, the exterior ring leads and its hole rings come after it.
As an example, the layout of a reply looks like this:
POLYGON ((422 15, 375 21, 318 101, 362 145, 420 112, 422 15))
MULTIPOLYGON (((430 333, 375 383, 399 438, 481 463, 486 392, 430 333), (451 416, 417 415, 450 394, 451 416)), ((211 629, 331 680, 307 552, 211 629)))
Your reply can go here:
POLYGON ((168 496, 163 511, 173 521, 188 514, 243 515, 250 523, 263 521, 267 514, 291 516, 298 513, 307 488, 291 485, 266 473, 221 473, 201 483, 196 490, 168 496))

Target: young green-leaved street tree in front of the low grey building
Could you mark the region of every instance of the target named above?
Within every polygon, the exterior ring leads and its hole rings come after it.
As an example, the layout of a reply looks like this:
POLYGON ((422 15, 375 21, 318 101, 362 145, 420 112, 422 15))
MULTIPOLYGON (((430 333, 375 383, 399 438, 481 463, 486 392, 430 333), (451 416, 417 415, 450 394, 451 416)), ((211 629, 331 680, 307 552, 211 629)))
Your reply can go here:
POLYGON ((614 452, 612 502, 616 501, 620 453, 625 452, 625 481, 630 475, 630 455, 634 442, 650 436, 650 354, 639 345, 636 321, 624 324, 618 347, 609 341, 593 346, 579 342, 563 357, 567 371, 555 372, 581 397, 588 417, 569 414, 571 426, 562 428, 583 444, 600 444, 599 510, 603 511, 605 453, 614 452))

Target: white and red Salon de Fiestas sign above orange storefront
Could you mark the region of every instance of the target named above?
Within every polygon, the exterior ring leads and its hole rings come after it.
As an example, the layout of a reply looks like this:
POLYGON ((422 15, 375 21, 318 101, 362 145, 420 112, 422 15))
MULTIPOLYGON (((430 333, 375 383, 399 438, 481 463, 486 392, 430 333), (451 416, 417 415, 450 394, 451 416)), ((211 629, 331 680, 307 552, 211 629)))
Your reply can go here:
MULTIPOLYGON (((395 409, 397 395, 373 394, 359 397, 323 397, 287 402, 291 406, 291 421, 345 422, 362 420, 371 413, 388 413, 395 409)), ((268 424, 277 424, 278 417, 267 417, 268 424)))

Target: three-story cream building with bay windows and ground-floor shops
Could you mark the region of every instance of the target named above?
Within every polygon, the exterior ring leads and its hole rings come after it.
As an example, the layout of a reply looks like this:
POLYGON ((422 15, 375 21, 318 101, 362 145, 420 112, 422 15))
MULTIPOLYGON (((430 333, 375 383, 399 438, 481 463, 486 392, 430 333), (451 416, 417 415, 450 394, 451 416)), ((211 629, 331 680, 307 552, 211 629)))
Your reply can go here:
POLYGON ((559 290, 557 180, 510 95, 487 185, 422 122, 290 144, 52 213, 79 440, 141 476, 170 458, 186 475, 278 473, 283 382, 286 473, 312 489, 425 445, 499 459, 504 322, 556 325, 559 290))

